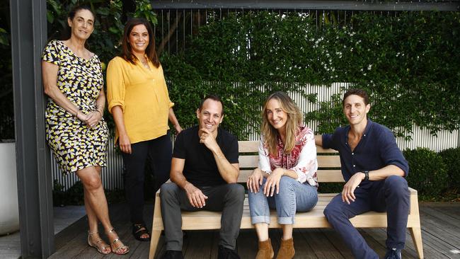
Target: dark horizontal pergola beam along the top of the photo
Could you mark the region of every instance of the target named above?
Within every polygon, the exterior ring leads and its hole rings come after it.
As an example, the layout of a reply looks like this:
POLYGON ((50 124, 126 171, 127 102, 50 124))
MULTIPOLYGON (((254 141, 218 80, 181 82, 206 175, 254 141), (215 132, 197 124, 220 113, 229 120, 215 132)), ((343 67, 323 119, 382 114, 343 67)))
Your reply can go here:
POLYGON ((350 11, 460 11, 459 1, 151 1, 154 9, 296 9, 350 11))

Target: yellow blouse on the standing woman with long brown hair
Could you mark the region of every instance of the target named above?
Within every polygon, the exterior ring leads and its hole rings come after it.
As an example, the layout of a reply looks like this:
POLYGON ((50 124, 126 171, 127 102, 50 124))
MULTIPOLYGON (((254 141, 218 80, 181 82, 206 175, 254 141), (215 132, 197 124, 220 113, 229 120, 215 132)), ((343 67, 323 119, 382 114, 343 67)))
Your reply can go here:
MULTIPOLYGON (((163 76, 163 68, 149 62, 146 69, 137 61, 113 58, 107 67, 108 110, 120 105, 131 143, 156 139, 168 131, 169 108, 173 107, 163 76)), ((118 132, 115 130, 115 142, 118 132)))

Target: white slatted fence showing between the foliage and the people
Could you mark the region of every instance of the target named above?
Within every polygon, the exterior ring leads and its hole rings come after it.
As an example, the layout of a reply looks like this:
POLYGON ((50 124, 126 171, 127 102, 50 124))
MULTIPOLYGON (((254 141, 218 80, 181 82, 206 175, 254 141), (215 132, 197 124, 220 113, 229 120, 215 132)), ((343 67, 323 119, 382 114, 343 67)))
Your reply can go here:
MULTIPOLYGON (((330 101, 330 96, 335 93, 341 93, 343 86, 347 86, 346 83, 336 83, 330 87, 326 86, 305 86, 306 93, 317 93, 317 100, 316 103, 310 103, 306 100, 300 93, 289 93, 299 108, 301 108, 304 113, 318 110, 319 104, 322 101, 330 101)), ((316 131, 318 127, 317 122, 313 122, 308 125, 316 131)), ((403 149, 415 149, 416 147, 426 147, 428 149, 432 149, 433 151, 441 151, 444 149, 449 149, 452 147, 460 146, 459 142, 459 130, 454 130, 453 132, 448 131, 441 131, 438 132, 437 137, 433 137, 430 134, 430 131, 427 129, 420 129, 420 127, 413 126, 413 134, 411 140, 406 140, 404 138, 396 139, 398 146, 401 150, 403 149)), ((255 133, 249 137, 249 140, 258 140, 259 134, 255 133)), ((109 139, 108 143, 108 159, 107 159, 107 167, 103 168, 102 175, 103 175, 103 185, 105 189, 114 190, 114 189, 122 189, 123 188, 123 180, 122 180, 122 158, 120 154, 114 149, 113 138, 109 139)), ((53 179, 58 180, 61 185, 64 185, 64 190, 67 190, 74 185, 78 178, 75 174, 69 174, 63 176, 59 168, 57 167, 54 158, 52 159, 52 174, 53 179)))

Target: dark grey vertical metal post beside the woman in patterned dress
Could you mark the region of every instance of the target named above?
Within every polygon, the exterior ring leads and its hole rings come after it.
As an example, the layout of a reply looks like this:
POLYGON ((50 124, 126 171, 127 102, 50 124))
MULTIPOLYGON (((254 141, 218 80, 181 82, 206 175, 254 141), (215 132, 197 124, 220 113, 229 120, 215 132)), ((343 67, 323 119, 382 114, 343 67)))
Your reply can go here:
POLYGON ((54 252, 54 226, 40 62, 46 0, 11 0, 10 8, 21 254, 47 258, 54 252))

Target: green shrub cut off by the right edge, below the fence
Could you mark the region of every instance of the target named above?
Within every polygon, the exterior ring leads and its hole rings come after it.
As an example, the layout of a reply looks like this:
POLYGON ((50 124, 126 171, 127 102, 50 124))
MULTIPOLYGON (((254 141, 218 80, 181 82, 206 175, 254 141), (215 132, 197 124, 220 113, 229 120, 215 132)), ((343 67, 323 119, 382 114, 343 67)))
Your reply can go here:
POLYGON ((439 152, 447 168, 449 189, 460 192, 460 147, 439 152))

